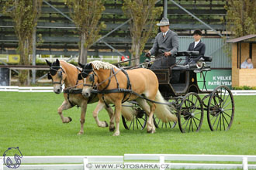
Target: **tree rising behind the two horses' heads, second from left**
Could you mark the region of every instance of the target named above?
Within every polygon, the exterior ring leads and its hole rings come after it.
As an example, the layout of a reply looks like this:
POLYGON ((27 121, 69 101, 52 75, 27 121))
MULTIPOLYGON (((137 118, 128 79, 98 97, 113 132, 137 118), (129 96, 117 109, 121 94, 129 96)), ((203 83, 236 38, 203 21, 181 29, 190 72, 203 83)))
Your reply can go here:
POLYGON ((79 63, 87 63, 87 53, 93 42, 100 38, 99 31, 106 27, 99 22, 105 11, 104 0, 65 0, 71 17, 80 32, 79 63))

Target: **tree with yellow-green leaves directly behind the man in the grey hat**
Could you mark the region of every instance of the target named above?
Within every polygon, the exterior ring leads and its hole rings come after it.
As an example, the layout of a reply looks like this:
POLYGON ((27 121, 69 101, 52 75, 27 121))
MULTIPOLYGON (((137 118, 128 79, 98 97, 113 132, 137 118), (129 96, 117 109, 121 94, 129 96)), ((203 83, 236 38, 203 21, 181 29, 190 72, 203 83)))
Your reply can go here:
MULTIPOLYGON (((123 12, 131 19, 132 59, 140 56, 147 40, 157 31, 155 20, 160 17, 163 8, 156 7, 156 2, 157 0, 123 0, 123 12)), ((133 64, 139 63, 139 59, 136 59, 133 64)))

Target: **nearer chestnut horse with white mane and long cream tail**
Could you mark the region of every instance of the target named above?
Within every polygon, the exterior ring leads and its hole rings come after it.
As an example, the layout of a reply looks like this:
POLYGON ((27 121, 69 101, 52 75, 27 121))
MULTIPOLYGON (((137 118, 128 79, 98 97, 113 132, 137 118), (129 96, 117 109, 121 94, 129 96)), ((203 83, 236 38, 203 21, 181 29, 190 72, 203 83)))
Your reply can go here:
POLYGON ((172 113, 173 108, 166 105, 166 101, 161 96, 158 90, 157 76, 151 70, 139 68, 124 71, 110 63, 101 61, 93 61, 86 65, 79 63, 79 65, 82 67, 81 78, 84 81, 82 95, 90 97, 93 95, 94 87, 97 87, 98 90, 96 92, 99 103, 94 112, 98 113, 106 104, 115 105, 115 112, 109 123, 109 127, 114 126, 115 119, 116 131, 114 136, 119 135, 120 112, 122 102, 126 100, 136 100, 140 107, 146 111, 149 117, 147 120, 148 133, 155 132, 153 114, 156 114, 164 122, 177 121, 177 117, 172 113))

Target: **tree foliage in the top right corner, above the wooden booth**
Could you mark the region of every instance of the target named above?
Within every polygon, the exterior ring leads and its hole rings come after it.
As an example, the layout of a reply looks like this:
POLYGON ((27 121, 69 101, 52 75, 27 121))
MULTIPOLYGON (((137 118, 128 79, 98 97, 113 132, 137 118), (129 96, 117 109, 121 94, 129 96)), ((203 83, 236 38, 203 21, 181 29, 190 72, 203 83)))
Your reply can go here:
POLYGON ((256 33, 256 1, 227 0, 227 29, 235 37, 256 33))

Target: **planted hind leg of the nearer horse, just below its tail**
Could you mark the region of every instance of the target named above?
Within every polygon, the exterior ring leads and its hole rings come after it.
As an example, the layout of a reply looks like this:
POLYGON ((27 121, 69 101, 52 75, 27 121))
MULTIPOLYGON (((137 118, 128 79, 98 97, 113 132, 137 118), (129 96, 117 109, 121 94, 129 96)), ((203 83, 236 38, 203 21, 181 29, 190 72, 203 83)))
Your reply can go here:
POLYGON ((142 98, 137 98, 137 103, 140 105, 140 107, 147 113, 148 119, 147 119, 147 132, 148 133, 154 133, 155 132, 155 127, 154 127, 154 122, 153 122, 153 113, 154 113, 154 108, 152 108, 146 100, 142 98))

